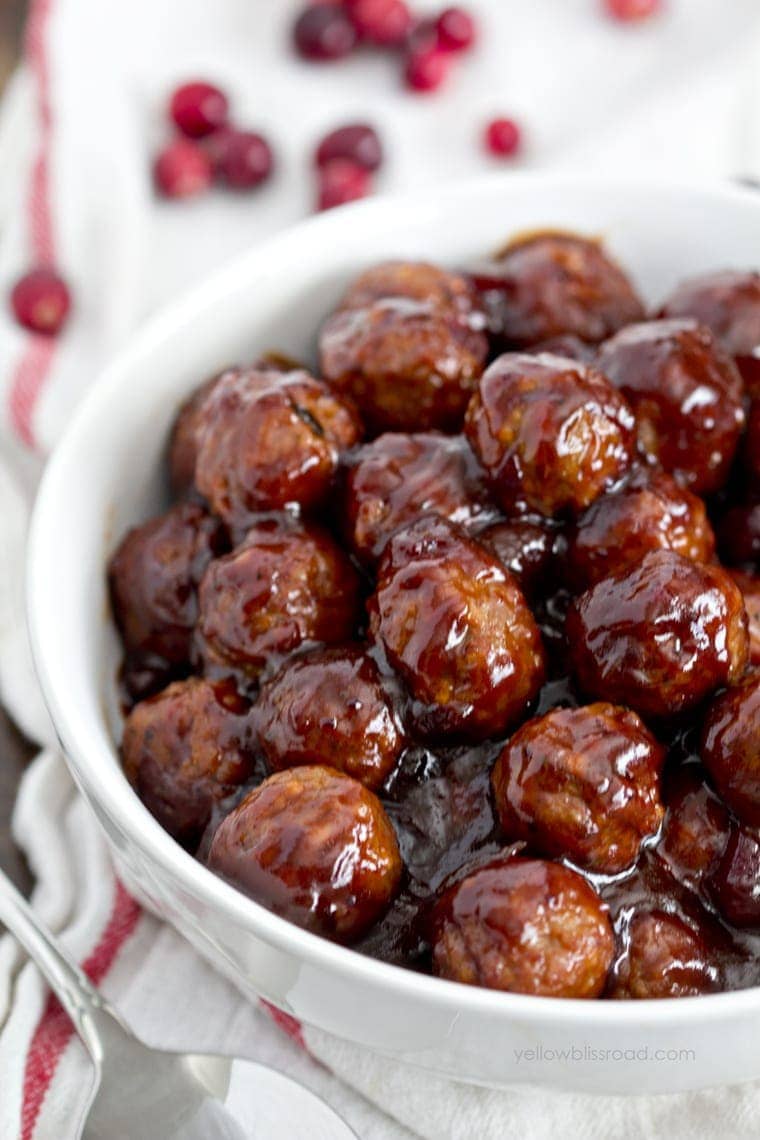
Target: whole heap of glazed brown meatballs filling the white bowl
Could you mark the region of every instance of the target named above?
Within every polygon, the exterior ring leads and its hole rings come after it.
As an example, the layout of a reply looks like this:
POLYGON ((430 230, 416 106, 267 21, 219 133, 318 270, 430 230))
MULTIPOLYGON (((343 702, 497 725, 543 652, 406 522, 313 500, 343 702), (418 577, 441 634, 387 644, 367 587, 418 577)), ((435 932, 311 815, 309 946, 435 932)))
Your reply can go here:
POLYGON ((263 906, 493 990, 760 983, 760 275, 596 241, 348 287, 179 410, 124 772, 263 906))

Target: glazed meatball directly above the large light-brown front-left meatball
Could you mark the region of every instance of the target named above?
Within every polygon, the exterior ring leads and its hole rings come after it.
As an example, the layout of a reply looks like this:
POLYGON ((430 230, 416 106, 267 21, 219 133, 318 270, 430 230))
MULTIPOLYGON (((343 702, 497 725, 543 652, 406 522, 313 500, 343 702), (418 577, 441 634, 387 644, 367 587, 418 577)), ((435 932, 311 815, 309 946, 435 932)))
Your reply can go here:
POLYGON ((276 771, 325 764, 377 789, 404 746, 377 666, 358 646, 286 661, 262 686, 254 712, 260 747, 276 771))

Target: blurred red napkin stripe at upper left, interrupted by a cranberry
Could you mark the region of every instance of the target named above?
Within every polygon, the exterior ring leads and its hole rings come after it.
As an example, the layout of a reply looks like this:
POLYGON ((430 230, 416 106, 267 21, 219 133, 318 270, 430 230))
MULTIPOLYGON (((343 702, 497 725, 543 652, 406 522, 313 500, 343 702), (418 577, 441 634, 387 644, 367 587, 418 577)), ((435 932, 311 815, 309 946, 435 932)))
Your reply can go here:
MULTIPOLYGON (((38 264, 56 260, 50 210, 50 73, 47 55, 47 31, 52 0, 32 0, 26 24, 25 57, 36 85, 40 145, 26 196, 26 220, 31 259, 38 264)), ((55 351, 55 337, 31 334, 10 382, 8 413, 10 424, 24 443, 34 447, 32 418, 40 391, 49 375, 55 351)))

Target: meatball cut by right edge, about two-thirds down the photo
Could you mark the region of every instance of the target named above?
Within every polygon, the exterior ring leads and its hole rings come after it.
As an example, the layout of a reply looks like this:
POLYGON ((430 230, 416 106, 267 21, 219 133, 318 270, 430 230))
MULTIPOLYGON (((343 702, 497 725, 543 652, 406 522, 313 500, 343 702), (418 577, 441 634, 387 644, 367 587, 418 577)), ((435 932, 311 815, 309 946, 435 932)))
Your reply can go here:
POLYGON ((719 795, 751 826, 760 826, 760 673, 721 693, 702 731, 701 756, 719 795))

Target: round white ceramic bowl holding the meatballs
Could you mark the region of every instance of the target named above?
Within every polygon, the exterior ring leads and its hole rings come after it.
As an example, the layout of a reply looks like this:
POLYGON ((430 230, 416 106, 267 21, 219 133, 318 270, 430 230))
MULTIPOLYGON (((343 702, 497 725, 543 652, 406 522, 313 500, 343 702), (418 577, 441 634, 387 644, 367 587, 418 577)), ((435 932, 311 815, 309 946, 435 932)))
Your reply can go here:
POLYGON ((602 236, 655 302, 689 274, 760 266, 760 194, 583 178, 489 177, 304 222, 245 253, 136 336, 97 378, 42 482, 31 535, 34 657, 71 769, 126 886, 252 996, 459 1080, 673 1092, 760 1077, 760 988, 678 1001, 493 993, 335 946, 222 882, 161 829, 115 748, 119 648, 104 588, 124 529, 162 506, 181 399, 267 349, 313 355, 344 283, 390 256, 457 266, 537 227, 602 236))

